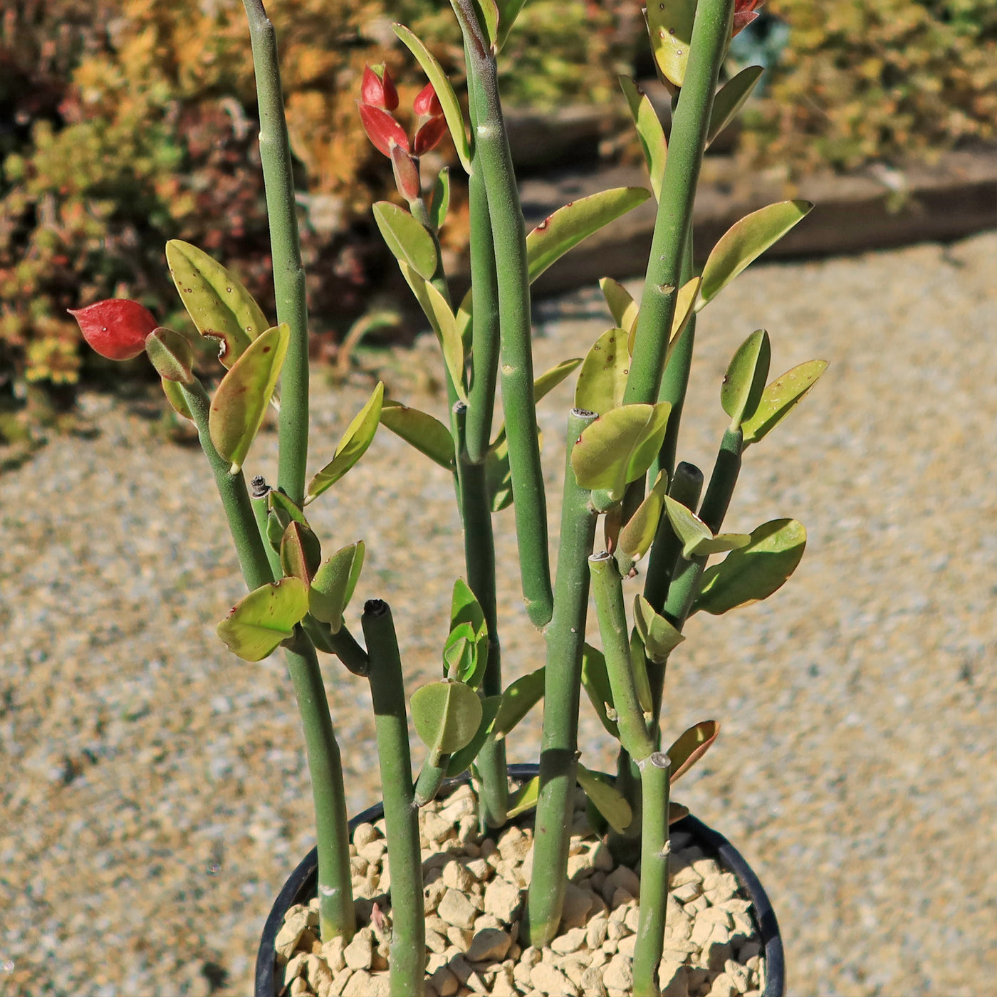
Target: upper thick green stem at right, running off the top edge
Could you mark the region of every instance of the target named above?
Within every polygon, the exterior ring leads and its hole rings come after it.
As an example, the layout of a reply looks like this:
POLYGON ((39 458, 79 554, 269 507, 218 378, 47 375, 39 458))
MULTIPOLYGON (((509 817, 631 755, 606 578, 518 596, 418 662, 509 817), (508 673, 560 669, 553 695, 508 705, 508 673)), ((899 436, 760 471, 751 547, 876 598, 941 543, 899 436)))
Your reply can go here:
POLYGON ((672 123, 668 159, 640 303, 633 363, 623 402, 657 401, 681 286, 683 252, 706 148, 720 64, 731 35, 734 0, 699 0, 689 63, 672 123))

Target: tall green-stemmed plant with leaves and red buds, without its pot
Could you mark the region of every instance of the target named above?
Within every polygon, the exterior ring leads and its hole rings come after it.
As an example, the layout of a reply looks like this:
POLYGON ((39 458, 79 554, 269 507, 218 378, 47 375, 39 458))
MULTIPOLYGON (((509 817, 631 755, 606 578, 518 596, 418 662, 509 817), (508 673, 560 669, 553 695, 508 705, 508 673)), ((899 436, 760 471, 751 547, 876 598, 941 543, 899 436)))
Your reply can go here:
POLYGON ((497 74, 521 0, 452 0, 455 39, 466 56, 466 101, 426 45, 408 28, 394 26, 429 81, 412 108, 418 127, 410 136, 396 119, 399 97, 384 66, 365 72, 358 107, 368 136, 394 169, 399 201, 376 204, 374 217, 440 343, 448 399, 443 419, 386 398, 379 384, 331 458, 325 455, 307 475, 304 269, 276 40, 261 0, 244 0, 244 6, 256 71, 276 321, 221 263, 175 240, 166 245, 166 259, 177 291, 197 332, 218 341, 226 368, 213 393, 193 372, 187 337, 161 328, 136 302, 108 300, 73 313, 105 356, 122 360, 145 351, 169 403, 196 426, 248 589, 219 622, 218 636, 246 661, 282 648, 297 698, 315 805, 319 930, 326 940, 348 940, 356 912, 343 771, 320 655, 338 658, 370 683, 392 872, 392 993, 421 994, 425 986, 419 809, 445 779, 469 768, 483 829, 499 828, 509 815, 535 806, 532 879, 520 925, 520 937, 534 946, 549 943, 561 921, 576 788, 584 791, 592 823, 607 833, 615 853, 639 861, 633 992, 659 992, 669 823, 684 813, 670 800, 670 787, 719 730, 704 721, 674 742, 663 740, 667 664, 691 614, 725 613, 764 599, 799 563, 806 543, 799 522, 776 519, 745 533, 724 531, 724 520, 745 451, 790 414, 826 366, 815 360, 770 380, 769 335, 752 332, 721 385, 730 423, 709 476, 678 461, 698 313, 811 207, 784 201, 749 214, 720 239, 701 271, 694 267, 691 217, 704 151, 761 74, 751 67, 718 86, 730 40, 757 16, 756 5, 664 0, 649 6, 655 62, 672 95, 670 132, 637 85, 620 78, 649 187, 583 197, 530 232, 497 74), (440 251, 449 173, 427 175, 420 160, 448 135, 469 184, 472 283, 462 301, 451 297, 440 251), (537 375, 530 284, 582 239, 651 197, 657 223, 641 295, 633 298, 615 280, 603 279, 611 327, 583 358, 537 375), (535 408, 568 377, 575 377, 574 407, 565 415, 567 460, 552 574, 535 408), (504 422, 497 428, 499 391, 504 422), (267 483, 257 476, 247 483, 243 468, 271 405, 278 411, 277 479, 267 483), (307 517, 309 504, 349 473, 381 425, 452 476, 464 523, 466 563, 464 577, 455 579, 443 676, 414 690, 408 703, 389 606, 376 599, 365 604, 362 641, 350 612, 363 541, 338 549, 333 544, 328 553, 307 517), (507 506, 515 520, 526 611, 546 641, 544 666, 510 683, 500 661, 493 541, 493 517, 507 506), (715 555, 724 556, 710 564, 715 555), (590 595, 601 650, 586 642, 590 595), (582 689, 619 740, 615 778, 596 775, 579 761, 582 689), (541 701, 539 775, 510 795, 506 736, 541 701), (426 745, 415 775, 410 720, 426 745))

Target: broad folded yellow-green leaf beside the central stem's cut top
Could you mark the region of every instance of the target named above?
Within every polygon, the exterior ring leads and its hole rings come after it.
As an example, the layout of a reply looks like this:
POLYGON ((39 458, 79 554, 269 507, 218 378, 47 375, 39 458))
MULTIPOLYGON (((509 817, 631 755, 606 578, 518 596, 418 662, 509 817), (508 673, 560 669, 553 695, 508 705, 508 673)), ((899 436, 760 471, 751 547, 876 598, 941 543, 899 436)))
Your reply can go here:
POLYGON ((583 489, 605 489, 617 501, 658 456, 665 436, 668 402, 624 405, 586 427, 571 451, 571 469, 583 489))

